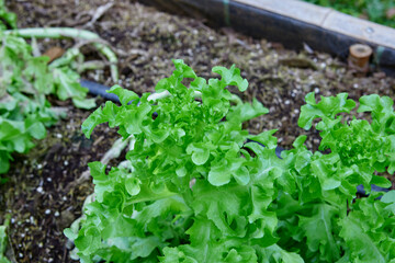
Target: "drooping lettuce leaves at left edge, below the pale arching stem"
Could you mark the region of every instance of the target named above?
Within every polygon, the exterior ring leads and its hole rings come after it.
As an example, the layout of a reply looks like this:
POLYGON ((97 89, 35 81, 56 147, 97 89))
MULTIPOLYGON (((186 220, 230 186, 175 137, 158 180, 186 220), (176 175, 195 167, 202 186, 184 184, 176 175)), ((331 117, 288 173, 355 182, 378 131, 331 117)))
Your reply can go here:
POLYGON ((46 96, 71 99, 78 107, 90 108, 94 100, 86 99, 88 90, 79 75, 67 66, 48 67, 48 57, 34 57, 32 46, 23 38, 0 32, 0 174, 9 170, 12 152, 25 153, 33 139, 43 139, 46 127, 61 113, 46 96))

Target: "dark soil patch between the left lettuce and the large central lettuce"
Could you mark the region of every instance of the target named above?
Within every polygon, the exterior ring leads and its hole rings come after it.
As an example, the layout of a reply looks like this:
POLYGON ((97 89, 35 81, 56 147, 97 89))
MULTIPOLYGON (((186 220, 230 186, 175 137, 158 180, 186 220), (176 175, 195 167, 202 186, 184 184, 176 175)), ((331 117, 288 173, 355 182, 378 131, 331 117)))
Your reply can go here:
POLYGON ((90 181, 68 186, 119 137, 101 125, 87 139, 80 127, 88 115, 68 106, 67 118, 29 155, 15 157, 9 182, 1 185, 1 205, 12 216, 9 233, 18 262, 70 262, 63 229, 81 215, 93 187, 90 181))

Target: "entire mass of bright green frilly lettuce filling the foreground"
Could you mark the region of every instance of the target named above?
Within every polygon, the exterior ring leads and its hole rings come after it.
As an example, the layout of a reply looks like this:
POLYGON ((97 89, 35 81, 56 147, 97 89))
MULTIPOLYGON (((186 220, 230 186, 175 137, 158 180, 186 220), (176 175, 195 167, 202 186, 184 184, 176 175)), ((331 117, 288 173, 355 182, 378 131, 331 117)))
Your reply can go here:
POLYGON ((214 67, 221 79, 206 81, 182 60, 173 62, 176 70, 159 81, 157 94, 138 98, 115 85, 110 92, 122 105, 106 102, 82 125, 89 137, 97 125, 109 123, 132 147, 119 167, 89 164, 94 201, 65 230, 81 262, 395 258, 394 192, 353 202, 359 184, 388 186, 374 174, 391 167, 394 151, 391 103, 384 108, 381 101, 386 99, 362 98, 379 100, 376 106, 360 107, 372 112, 373 122, 349 124, 337 116, 354 106, 347 95, 319 103, 307 95, 300 125, 311 128, 321 118, 321 148, 331 152, 311 152, 302 136, 280 159, 275 130, 249 135, 242 129, 244 122, 268 110, 258 101, 242 103, 226 89, 247 89, 239 69, 214 67), (358 148, 359 139, 370 147, 358 148))

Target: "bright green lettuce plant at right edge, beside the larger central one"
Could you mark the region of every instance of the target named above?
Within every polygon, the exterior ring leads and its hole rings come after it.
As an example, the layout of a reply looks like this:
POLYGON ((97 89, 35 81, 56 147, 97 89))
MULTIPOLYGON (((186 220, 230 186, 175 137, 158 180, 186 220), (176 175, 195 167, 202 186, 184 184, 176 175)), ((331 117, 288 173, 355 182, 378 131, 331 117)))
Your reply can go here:
MULTIPOLYGON (((342 121, 356 107, 346 93, 306 96, 298 125, 309 129, 315 119, 320 130, 320 150, 312 152, 298 137, 294 149, 284 151, 285 173, 293 178, 293 191, 281 193, 273 209, 280 219, 278 235, 284 248, 301 248, 306 262, 394 262, 395 193, 371 193, 356 198, 363 184, 390 187, 376 173, 394 172, 394 111, 390 98, 376 94, 360 99, 358 112, 371 112, 365 119, 342 121)), ((273 203, 274 204, 274 203, 273 203)))

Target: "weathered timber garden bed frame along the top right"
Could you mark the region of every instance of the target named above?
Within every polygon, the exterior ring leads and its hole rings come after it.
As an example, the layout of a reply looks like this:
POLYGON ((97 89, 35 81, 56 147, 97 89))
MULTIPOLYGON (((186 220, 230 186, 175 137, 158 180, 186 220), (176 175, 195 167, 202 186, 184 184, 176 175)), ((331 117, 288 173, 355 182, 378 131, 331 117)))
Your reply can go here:
POLYGON ((373 48, 371 62, 395 76, 395 30, 297 0, 137 0, 188 16, 206 19, 286 48, 311 48, 346 59, 349 46, 373 48))

